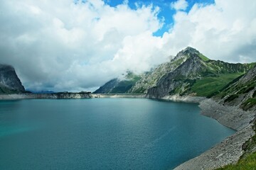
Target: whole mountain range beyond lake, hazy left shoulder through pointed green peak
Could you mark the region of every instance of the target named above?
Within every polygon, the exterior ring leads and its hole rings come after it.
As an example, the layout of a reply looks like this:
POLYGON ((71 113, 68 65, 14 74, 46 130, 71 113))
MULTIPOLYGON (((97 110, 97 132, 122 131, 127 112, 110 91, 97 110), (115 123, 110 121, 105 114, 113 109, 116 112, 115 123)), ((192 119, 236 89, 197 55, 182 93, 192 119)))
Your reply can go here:
POLYGON ((160 64, 139 79, 112 79, 95 93, 146 94, 149 98, 168 95, 207 96, 218 94, 230 81, 255 66, 210 60, 192 47, 178 52, 170 62, 160 64))

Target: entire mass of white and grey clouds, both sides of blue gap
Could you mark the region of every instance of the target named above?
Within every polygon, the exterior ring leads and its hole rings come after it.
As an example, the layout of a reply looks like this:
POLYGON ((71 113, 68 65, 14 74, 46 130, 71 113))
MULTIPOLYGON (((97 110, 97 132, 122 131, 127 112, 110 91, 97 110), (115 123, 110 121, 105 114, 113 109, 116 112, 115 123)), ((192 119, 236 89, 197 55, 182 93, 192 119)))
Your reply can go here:
POLYGON ((14 65, 26 89, 53 91, 95 89, 127 69, 147 71, 188 45, 215 60, 255 62, 256 1, 215 0, 180 11, 187 5, 176 5, 173 27, 155 37, 164 20, 154 4, 2 1, 0 62, 14 65))

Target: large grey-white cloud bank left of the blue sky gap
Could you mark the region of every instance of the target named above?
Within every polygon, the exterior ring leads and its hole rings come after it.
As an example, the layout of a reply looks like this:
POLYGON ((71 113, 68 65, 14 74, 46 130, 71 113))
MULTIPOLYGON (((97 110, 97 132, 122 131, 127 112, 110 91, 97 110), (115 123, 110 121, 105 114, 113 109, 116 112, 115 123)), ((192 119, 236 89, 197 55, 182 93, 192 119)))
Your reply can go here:
POLYGON ((157 48, 152 33, 161 22, 153 6, 133 10, 125 3, 114 8, 100 0, 26 0, 4 1, 0 9, 1 60, 16 67, 27 89, 87 89, 127 69, 146 71, 154 60, 147 48, 157 48), (137 42, 140 48, 125 51, 134 46, 129 39, 137 37, 145 41, 137 42), (143 67, 134 62, 144 62, 143 67))

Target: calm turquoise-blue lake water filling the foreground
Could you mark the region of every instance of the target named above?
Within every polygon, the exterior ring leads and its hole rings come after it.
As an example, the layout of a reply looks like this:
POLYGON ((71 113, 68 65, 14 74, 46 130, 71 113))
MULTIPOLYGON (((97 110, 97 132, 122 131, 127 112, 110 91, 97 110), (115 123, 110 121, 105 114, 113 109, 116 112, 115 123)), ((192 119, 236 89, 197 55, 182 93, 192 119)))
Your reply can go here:
POLYGON ((233 133, 192 103, 0 101, 0 169, 172 169, 233 133))

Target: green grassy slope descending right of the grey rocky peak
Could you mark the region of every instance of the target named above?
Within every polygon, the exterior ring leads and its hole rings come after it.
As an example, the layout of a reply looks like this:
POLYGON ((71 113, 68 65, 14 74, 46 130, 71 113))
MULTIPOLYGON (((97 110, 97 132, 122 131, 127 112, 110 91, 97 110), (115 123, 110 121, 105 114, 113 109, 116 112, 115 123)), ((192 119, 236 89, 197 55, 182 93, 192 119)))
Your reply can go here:
POLYGON ((201 74, 201 79, 196 79, 196 83, 190 84, 187 94, 196 94, 196 96, 211 97, 218 94, 230 81, 245 74, 252 69, 256 63, 250 64, 229 64, 221 61, 209 60, 206 56, 200 54, 199 57, 205 63, 201 74))

